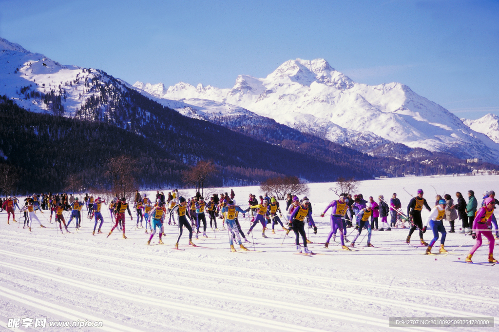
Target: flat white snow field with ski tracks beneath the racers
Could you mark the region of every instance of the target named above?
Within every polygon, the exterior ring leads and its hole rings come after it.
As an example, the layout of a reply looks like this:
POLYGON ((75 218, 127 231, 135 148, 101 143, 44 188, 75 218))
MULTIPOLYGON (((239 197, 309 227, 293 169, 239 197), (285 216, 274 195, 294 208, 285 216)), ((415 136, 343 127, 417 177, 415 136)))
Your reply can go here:
MULTIPOLYGON (((397 192, 405 207, 410 196, 402 188, 411 193, 422 188, 430 205, 435 197, 431 186, 441 195, 461 191, 465 197, 473 189, 480 202, 484 190, 498 189, 497 180, 497 176, 383 179, 361 182, 359 192, 364 197, 383 194, 386 198, 397 192)), ((310 185, 308 197, 314 214, 336 199, 328 190, 332 186, 334 183, 310 185)), ((233 189, 243 208, 250 192, 263 194, 258 187, 233 189)), ((187 194, 187 190, 183 192, 187 194)), ((103 327, 83 327, 81 331, 358 332, 393 330, 389 317, 499 317, 497 267, 463 263, 475 242, 464 234, 447 234, 446 248, 459 255, 422 255, 424 247, 404 243, 408 229, 397 228, 373 231, 371 242, 377 248, 365 247, 366 238, 361 235, 356 251, 311 244, 309 248, 320 255, 307 257, 293 255, 293 238, 284 239, 285 233, 277 228, 275 235, 267 231, 269 238, 262 239, 261 226, 256 226, 253 237, 257 244, 250 249, 258 252, 231 253, 227 233, 214 234, 209 228, 208 239, 194 240, 199 245, 196 248, 187 246, 184 230, 180 245, 186 250, 175 251, 176 226, 166 226, 165 246, 147 246, 148 235, 133 227, 135 215, 133 222, 127 216, 128 240, 118 231, 106 238, 111 227, 107 210, 104 234, 95 237, 91 234, 93 222, 86 218, 79 232, 71 225, 73 233, 61 235, 54 223, 49 223, 48 212, 38 216, 47 228, 39 228, 35 221, 29 233, 19 223, 7 225, 6 213, 0 213, 0 330, 8 331, 8 319, 20 318, 22 323, 25 318, 45 317, 47 327, 34 330, 75 331, 77 328, 49 327, 48 323, 88 320, 103 322, 103 327)), ((423 218, 426 216, 423 212, 423 218)), ((16 219, 22 222, 19 216, 16 219)), ((308 230, 309 239, 323 243, 329 232, 328 219, 315 220, 319 231, 314 235, 308 230)), ((247 231, 249 218, 242 218, 241 224, 247 231)), ((447 222, 445 225, 449 228, 447 222)), ((348 229, 348 233, 352 231, 348 229)), ((424 237, 429 242, 431 231, 424 237)), ((417 233, 413 239, 417 240, 417 233)), ((157 241, 156 235, 153 242, 157 241)), ((474 261, 486 260, 483 246, 474 261)))

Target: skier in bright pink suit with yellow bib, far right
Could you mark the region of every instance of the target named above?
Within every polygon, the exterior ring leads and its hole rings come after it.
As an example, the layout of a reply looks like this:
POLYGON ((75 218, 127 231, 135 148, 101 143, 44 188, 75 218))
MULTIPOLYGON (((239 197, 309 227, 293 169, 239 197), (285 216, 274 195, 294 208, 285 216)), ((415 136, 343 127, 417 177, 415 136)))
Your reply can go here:
POLYGON ((494 198, 489 197, 485 200, 485 206, 481 207, 477 211, 477 215, 475 216, 475 220, 473 221, 473 239, 477 239, 477 243, 470 250, 470 253, 466 257, 466 262, 473 263, 471 258, 473 254, 477 251, 477 249, 482 246, 482 235, 485 236, 489 240, 489 263, 497 263, 497 260, 494 258, 494 245, 495 239, 492 236, 492 230, 489 229, 492 227, 492 215, 494 214, 494 207, 496 206, 496 201, 494 198), (476 231, 478 230, 478 231, 476 231))

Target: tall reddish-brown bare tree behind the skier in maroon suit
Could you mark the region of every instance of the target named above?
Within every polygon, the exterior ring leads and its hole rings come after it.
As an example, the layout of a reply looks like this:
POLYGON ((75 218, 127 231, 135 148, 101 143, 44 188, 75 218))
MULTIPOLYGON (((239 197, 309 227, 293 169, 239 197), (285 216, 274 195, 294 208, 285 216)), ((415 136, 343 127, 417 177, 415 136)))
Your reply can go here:
POLYGON ((138 172, 137 160, 131 156, 119 156, 109 159, 107 163, 108 171, 106 174, 110 177, 113 184, 112 192, 125 197, 131 202, 138 189, 135 175, 138 172))

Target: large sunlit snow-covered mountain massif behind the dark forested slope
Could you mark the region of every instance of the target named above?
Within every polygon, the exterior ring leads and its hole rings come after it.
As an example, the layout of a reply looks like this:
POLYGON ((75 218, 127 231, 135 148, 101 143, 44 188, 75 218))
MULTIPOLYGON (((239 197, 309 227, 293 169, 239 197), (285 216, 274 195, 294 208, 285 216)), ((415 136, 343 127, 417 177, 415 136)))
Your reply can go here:
POLYGON ((289 60, 265 78, 240 75, 230 89, 184 82, 168 89, 161 83, 134 86, 160 98, 198 98, 241 106, 339 143, 348 137, 344 130, 350 130, 461 158, 499 161, 499 144, 470 130, 454 114, 408 86, 356 83, 324 59, 289 60))

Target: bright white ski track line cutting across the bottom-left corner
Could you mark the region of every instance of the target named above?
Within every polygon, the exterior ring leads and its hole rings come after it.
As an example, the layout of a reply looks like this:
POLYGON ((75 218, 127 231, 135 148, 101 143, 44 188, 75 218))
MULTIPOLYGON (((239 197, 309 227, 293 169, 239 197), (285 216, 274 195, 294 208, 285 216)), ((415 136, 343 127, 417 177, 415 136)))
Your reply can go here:
POLYGON ((72 310, 69 308, 65 308, 56 304, 52 304, 50 302, 40 300, 34 298, 29 295, 25 295, 19 292, 15 292, 13 290, 9 290, 0 286, 0 296, 10 299, 15 302, 22 303, 23 305, 36 308, 37 310, 42 310, 53 315, 57 315, 60 317, 64 317, 67 320, 71 321, 93 321, 93 322, 103 322, 103 326, 99 327, 99 329, 109 332, 142 332, 141 330, 137 330, 134 328, 126 327, 120 324, 113 323, 111 321, 106 321, 102 318, 98 318, 92 315, 84 314, 78 312, 76 310, 72 310))

